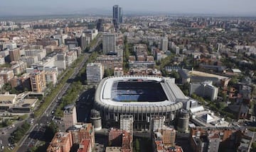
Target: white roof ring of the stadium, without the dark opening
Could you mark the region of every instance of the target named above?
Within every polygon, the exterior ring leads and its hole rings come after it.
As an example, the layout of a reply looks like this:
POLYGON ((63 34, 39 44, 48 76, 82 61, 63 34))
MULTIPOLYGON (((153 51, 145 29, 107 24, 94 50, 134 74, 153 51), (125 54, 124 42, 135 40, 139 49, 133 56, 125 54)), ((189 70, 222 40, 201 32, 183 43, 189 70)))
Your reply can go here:
POLYGON ((132 106, 132 107, 147 107, 147 106, 164 106, 173 105, 178 101, 187 99, 180 88, 172 83, 169 78, 160 76, 112 76, 103 80, 102 88, 100 91, 100 100, 103 104, 114 106, 132 106), (116 102, 112 100, 111 91, 115 81, 130 81, 130 80, 143 80, 143 81, 156 81, 161 83, 161 87, 166 94, 168 100, 156 102, 116 102))

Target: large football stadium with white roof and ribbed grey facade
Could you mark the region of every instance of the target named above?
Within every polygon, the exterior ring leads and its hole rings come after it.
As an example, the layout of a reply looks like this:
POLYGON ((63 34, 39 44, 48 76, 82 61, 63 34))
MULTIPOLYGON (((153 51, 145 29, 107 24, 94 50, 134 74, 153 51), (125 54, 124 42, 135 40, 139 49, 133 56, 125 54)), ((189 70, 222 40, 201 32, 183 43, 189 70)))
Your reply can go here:
POLYGON ((164 116, 170 125, 187 100, 173 79, 161 76, 110 76, 95 93, 95 109, 102 124, 118 127, 120 115, 132 115, 134 130, 147 130, 153 116, 164 116))

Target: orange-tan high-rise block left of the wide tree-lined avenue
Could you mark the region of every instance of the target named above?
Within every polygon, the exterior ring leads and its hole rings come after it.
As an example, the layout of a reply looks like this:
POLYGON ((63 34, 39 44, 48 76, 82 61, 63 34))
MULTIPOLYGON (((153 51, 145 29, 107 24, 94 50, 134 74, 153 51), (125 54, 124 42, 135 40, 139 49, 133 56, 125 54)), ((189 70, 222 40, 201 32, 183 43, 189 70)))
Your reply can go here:
POLYGON ((45 71, 33 71, 29 74, 31 79, 31 88, 33 92, 41 93, 46 88, 45 71))

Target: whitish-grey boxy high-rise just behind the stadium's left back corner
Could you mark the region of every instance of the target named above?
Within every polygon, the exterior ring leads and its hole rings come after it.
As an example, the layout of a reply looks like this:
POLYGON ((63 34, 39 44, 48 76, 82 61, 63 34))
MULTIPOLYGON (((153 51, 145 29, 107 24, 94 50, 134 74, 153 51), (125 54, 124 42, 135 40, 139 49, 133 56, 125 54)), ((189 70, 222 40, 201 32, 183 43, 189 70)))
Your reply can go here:
POLYGON ((89 63, 86 66, 87 84, 97 84, 103 78, 104 68, 101 63, 89 63))

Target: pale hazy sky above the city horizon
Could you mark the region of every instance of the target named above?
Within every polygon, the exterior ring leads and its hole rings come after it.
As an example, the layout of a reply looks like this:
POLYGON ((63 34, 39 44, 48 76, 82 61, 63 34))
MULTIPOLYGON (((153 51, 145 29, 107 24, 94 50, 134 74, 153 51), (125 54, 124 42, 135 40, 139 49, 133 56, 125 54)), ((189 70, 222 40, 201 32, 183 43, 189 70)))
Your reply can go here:
POLYGON ((70 13, 110 15, 114 4, 122 6, 124 14, 162 12, 256 16, 256 0, 0 0, 0 16, 70 13))

